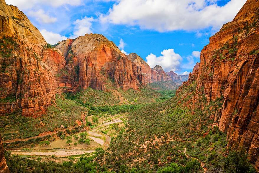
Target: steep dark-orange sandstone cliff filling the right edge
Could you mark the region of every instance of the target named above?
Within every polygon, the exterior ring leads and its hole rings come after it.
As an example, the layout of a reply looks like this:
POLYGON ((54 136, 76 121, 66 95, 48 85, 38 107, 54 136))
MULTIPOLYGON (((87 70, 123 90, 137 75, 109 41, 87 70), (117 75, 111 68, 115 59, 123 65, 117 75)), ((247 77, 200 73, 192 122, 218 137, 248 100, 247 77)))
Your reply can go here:
POLYGON ((210 38, 200 63, 190 74, 196 80, 193 103, 202 94, 207 102, 222 96, 215 113, 220 130, 227 131, 228 146, 244 147, 259 169, 259 1, 248 0, 232 22, 210 38))

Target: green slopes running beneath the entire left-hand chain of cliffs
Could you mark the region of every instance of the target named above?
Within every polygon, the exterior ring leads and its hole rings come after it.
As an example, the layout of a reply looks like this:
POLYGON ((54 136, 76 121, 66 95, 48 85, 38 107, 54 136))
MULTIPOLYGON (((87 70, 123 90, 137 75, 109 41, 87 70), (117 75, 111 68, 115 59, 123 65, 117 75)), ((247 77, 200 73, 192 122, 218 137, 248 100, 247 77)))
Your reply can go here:
MULTIPOLYGON (((161 101, 160 98, 167 99, 169 97, 167 93, 160 94, 150 88, 142 88, 140 91, 124 91, 120 89, 118 91, 132 104, 153 103, 161 101)), ((110 91, 100 91, 92 88, 80 91, 76 95, 57 95, 55 103, 56 105, 53 104, 53 106, 47 109, 47 114, 38 118, 23 117, 19 111, 0 117, 0 121, 4 122, 0 124, 0 132, 3 139, 29 138, 37 136, 42 132, 53 131, 59 128, 60 125, 64 127, 74 126, 76 125, 76 120, 81 121, 81 114, 88 112, 92 106, 97 108, 99 106, 109 106, 110 109, 107 112, 110 114, 127 112, 129 109, 132 109, 129 106, 116 106, 119 103, 119 99, 110 91), (115 107, 110 107, 112 105, 115 105, 115 107), (113 111, 113 109, 116 111, 113 111)), ((91 110, 91 114, 99 114, 103 108, 100 107, 99 109, 91 110)))

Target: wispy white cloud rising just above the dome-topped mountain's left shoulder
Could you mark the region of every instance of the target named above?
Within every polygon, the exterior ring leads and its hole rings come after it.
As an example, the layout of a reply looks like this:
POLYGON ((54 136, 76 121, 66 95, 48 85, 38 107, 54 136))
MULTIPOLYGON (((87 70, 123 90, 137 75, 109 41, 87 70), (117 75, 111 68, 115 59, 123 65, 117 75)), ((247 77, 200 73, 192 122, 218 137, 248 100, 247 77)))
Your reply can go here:
POLYGON ((83 19, 77 19, 73 24, 75 25, 74 32, 71 38, 77 38, 81 35, 93 33, 92 22, 95 21, 93 17, 84 17, 83 19))

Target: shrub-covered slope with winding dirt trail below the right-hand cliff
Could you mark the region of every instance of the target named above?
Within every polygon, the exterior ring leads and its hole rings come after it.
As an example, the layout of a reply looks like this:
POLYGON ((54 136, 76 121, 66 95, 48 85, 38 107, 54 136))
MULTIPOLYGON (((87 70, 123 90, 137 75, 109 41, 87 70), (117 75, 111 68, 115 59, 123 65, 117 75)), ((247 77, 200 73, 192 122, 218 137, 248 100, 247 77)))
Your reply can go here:
POLYGON ((201 95, 196 109, 190 109, 195 90, 194 82, 182 88, 177 97, 131 112, 129 126, 111 141, 103 166, 116 172, 203 172, 201 161, 208 171, 222 170, 227 155, 226 134, 212 125, 210 115, 221 107, 223 99, 219 97, 207 105, 201 95))

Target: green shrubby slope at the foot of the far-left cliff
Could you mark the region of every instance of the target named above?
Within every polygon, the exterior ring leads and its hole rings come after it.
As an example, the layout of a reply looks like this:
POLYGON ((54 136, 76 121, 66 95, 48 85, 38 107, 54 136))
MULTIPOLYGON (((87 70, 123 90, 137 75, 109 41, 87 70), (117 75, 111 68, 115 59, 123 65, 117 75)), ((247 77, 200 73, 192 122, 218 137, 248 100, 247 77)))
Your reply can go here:
POLYGON ((76 101, 68 100, 60 95, 56 96, 56 105, 47 109, 47 114, 38 117, 23 117, 21 112, 0 117, 1 135, 4 140, 14 138, 29 138, 42 132, 53 131, 60 125, 74 126, 76 120, 81 120, 81 114, 88 111, 76 101))

